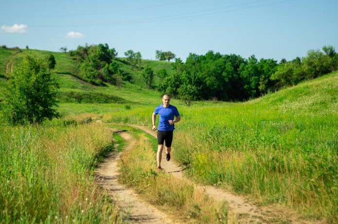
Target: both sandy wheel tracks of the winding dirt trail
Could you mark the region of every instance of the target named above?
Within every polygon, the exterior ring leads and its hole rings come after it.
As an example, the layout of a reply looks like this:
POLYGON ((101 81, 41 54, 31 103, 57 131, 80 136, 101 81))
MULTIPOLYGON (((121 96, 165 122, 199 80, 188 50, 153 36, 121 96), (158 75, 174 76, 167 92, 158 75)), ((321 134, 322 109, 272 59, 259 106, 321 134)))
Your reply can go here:
MULTIPOLYGON (((98 121, 101 122, 101 121, 98 121)), ((106 123, 106 125, 124 125, 106 123)), ((130 127, 142 130, 156 138, 157 132, 150 128, 128 125, 130 127)), ((124 150, 132 150, 138 144, 137 139, 132 137, 127 131, 117 131, 126 140, 124 150)), ((108 155, 104 162, 97 168, 95 175, 98 183, 107 190, 111 198, 118 201, 119 205, 125 211, 130 223, 180 223, 177 218, 172 219, 167 214, 163 213, 153 205, 149 205, 132 190, 118 183, 119 167, 118 160, 121 152, 108 155)), ((163 150, 162 157, 165 157, 163 150)), ((287 210, 286 208, 255 205, 249 198, 236 195, 224 189, 213 186, 201 186, 193 183, 183 175, 182 168, 173 162, 173 160, 162 160, 161 167, 165 173, 171 174, 176 178, 183 179, 195 187, 204 190, 211 198, 216 201, 226 200, 229 205, 228 224, 251 224, 251 223, 292 223, 292 224, 312 224, 323 223, 322 221, 304 220, 297 212, 287 210)))

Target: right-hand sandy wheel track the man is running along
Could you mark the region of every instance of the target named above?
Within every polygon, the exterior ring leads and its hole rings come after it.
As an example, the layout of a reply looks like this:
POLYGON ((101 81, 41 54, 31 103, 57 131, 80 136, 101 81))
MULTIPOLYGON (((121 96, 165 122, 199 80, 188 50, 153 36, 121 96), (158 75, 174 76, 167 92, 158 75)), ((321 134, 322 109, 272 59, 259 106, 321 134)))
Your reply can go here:
MULTIPOLYGON (((157 132, 150 128, 130 125, 157 137, 157 132)), ((163 150, 162 158, 165 158, 165 150, 163 150)), ((176 165, 172 160, 169 162, 162 159, 161 167, 166 173, 171 173, 179 179, 189 181, 182 174, 182 168, 176 165)), ((190 182, 190 181, 189 181, 190 182)), ((196 184, 195 184, 196 186, 196 184)), ((285 208, 276 208, 272 206, 257 206, 249 201, 248 198, 227 192, 223 189, 212 186, 196 186, 204 189, 206 193, 217 201, 226 200, 229 203, 230 211, 228 212, 228 223, 293 223, 293 224, 309 224, 320 223, 310 220, 302 220, 299 214, 286 210, 285 208)))

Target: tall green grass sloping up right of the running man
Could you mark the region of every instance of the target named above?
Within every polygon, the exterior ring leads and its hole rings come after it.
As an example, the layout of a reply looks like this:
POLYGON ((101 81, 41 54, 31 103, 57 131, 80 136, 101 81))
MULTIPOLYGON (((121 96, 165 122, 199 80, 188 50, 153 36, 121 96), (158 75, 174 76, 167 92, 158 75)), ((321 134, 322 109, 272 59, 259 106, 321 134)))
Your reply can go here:
MULTIPOLYGON (((150 128, 153 109, 112 112, 104 120, 150 128)), ((337 221, 337 74, 245 103, 178 111, 173 158, 193 179, 337 221)))

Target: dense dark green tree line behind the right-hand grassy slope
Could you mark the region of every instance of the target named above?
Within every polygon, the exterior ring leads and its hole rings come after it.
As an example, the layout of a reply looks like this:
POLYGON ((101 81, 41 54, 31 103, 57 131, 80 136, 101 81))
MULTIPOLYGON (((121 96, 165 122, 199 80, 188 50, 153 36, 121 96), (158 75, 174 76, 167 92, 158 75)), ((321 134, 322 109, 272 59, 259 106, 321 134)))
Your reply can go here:
POLYGON ((185 100, 187 105, 200 99, 243 101, 316 78, 337 67, 338 54, 333 46, 279 63, 272 58, 258 60, 254 55, 243 58, 213 51, 205 55, 191 53, 185 63, 176 58, 172 64, 174 73, 164 78, 159 90, 185 100))

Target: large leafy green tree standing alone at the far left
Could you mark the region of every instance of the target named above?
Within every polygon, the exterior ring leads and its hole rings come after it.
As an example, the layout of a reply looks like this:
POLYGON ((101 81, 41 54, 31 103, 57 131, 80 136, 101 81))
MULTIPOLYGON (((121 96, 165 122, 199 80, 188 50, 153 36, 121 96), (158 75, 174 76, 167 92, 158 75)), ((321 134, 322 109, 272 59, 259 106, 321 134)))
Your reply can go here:
POLYGON ((49 72, 46 60, 25 54, 13 75, 9 75, 2 112, 5 120, 24 124, 59 116, 55 109, 59 84, 49 72))

